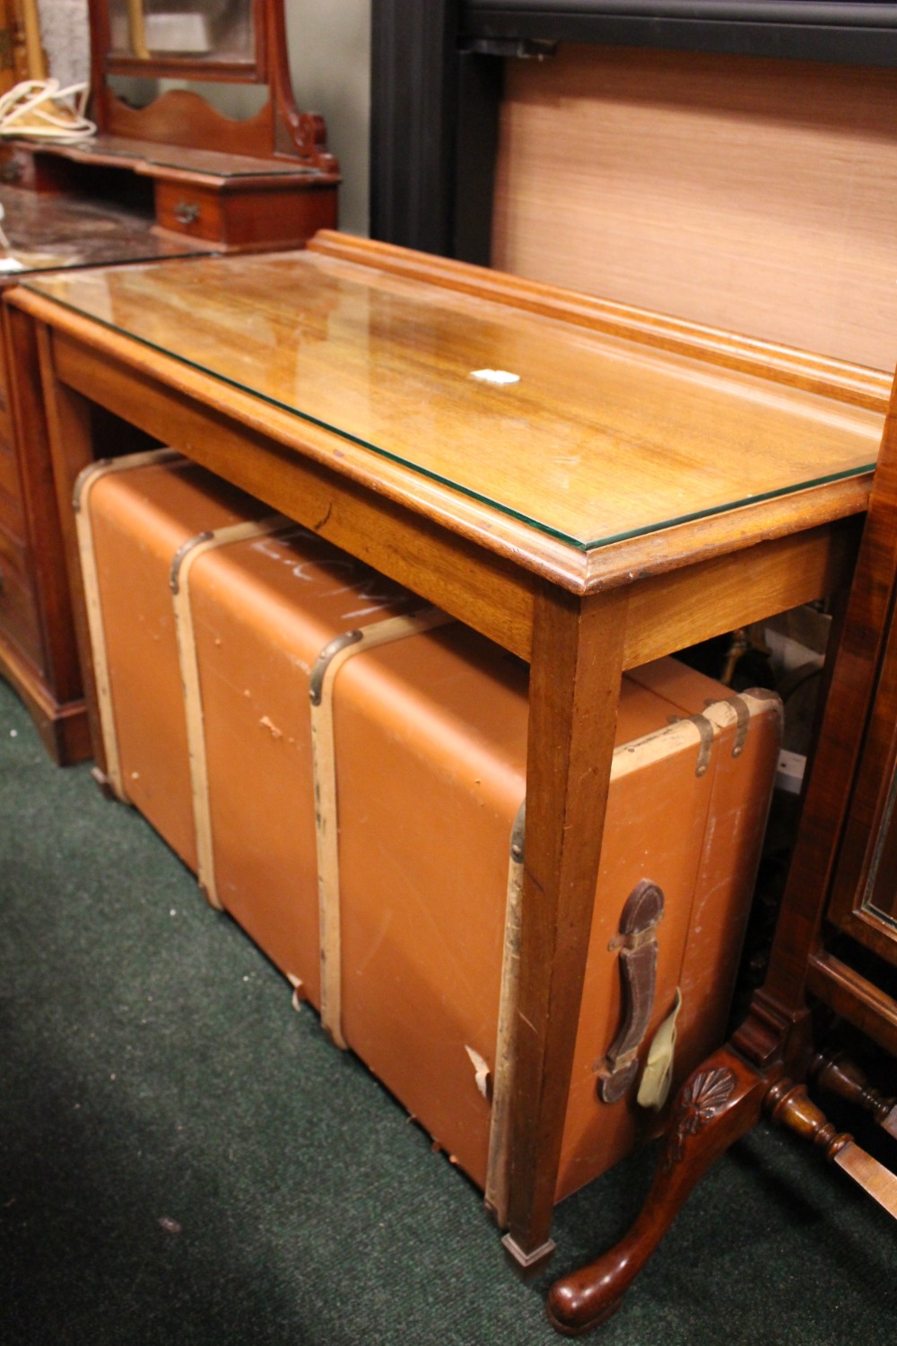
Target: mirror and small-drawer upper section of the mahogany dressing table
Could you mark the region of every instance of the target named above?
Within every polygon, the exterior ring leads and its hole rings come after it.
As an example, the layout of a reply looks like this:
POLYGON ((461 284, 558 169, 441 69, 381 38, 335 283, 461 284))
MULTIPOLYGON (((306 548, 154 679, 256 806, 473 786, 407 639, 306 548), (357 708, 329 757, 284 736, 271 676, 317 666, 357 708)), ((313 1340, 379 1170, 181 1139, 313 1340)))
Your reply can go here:
POLYGON ((89 15, 97 135, 8 139, 1 182, 141 202, 157 229, 225 250, 299 248, 336 225, 339 166, 323 118, 293 100, 282 0, 192 0, 176 13, 90 0, 89 15), (184 86, 160 93, 159 79, 184 86), (214 85, 258 86, 261 106, 226 116, 210 101, 214 85))

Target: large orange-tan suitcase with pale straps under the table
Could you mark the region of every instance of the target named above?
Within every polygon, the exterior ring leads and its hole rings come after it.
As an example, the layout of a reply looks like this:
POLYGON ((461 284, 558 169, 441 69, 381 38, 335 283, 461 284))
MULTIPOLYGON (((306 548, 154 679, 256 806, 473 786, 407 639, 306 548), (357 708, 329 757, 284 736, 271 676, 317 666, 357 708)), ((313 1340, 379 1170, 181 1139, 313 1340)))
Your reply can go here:
MULTIPOLYGON (((282 520, 215 533, 219 510, 191 466, 83 479, 121 793, 502 1221, 527 670, 282 520), (117 665, 136 621, 140 677, 117 665)), ((624 678, 558 1199, 655 1129, 671 1078, 722 1039, 779 732, 776 699, 672 660, 624 678)))

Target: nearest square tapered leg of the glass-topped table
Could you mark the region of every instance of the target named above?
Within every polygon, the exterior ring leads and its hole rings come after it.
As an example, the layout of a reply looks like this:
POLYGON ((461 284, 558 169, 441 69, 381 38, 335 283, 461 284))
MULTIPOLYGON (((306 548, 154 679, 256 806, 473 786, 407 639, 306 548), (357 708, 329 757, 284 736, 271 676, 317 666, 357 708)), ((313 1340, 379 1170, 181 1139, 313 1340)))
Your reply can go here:
POLYGON ((625 590, 577 599, 546 586, 535 599, 504 1240, 524 1269, 541 1265, 553 1249, 627 604, 625 590))

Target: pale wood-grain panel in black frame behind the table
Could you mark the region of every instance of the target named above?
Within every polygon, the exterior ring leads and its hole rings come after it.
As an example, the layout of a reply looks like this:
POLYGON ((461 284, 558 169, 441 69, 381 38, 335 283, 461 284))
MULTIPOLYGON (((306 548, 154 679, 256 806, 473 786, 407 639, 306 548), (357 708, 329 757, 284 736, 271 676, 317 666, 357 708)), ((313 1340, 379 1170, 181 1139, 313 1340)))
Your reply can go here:
POLYGON ((508 62, 492 264, 892 370, 897 70, 508 62))

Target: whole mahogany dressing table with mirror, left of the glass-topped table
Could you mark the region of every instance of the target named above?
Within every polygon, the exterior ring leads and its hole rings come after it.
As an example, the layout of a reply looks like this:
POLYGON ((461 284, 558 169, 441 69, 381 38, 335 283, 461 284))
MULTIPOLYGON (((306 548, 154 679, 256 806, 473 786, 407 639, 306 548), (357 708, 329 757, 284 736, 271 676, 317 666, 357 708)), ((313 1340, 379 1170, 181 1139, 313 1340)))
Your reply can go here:
MULTIPOLYGON (((293 101, 281 0, 195 0, 179 13, 90 0, 90 38, 98 135, 0 140, 0 287, 48 269, 301 246, 335 225, 338 164, 321 118, 293 101), (125 75, 143 106, 117 90, 125 75), (261 108, 235 120, 195 89, 157 96, 160 77, 254 85, 261 108)), ((0 672, 66 763, 89 755, 90 738, 44 412, 11 367, 20 358, 31 353, 0 350, 0 672)))

